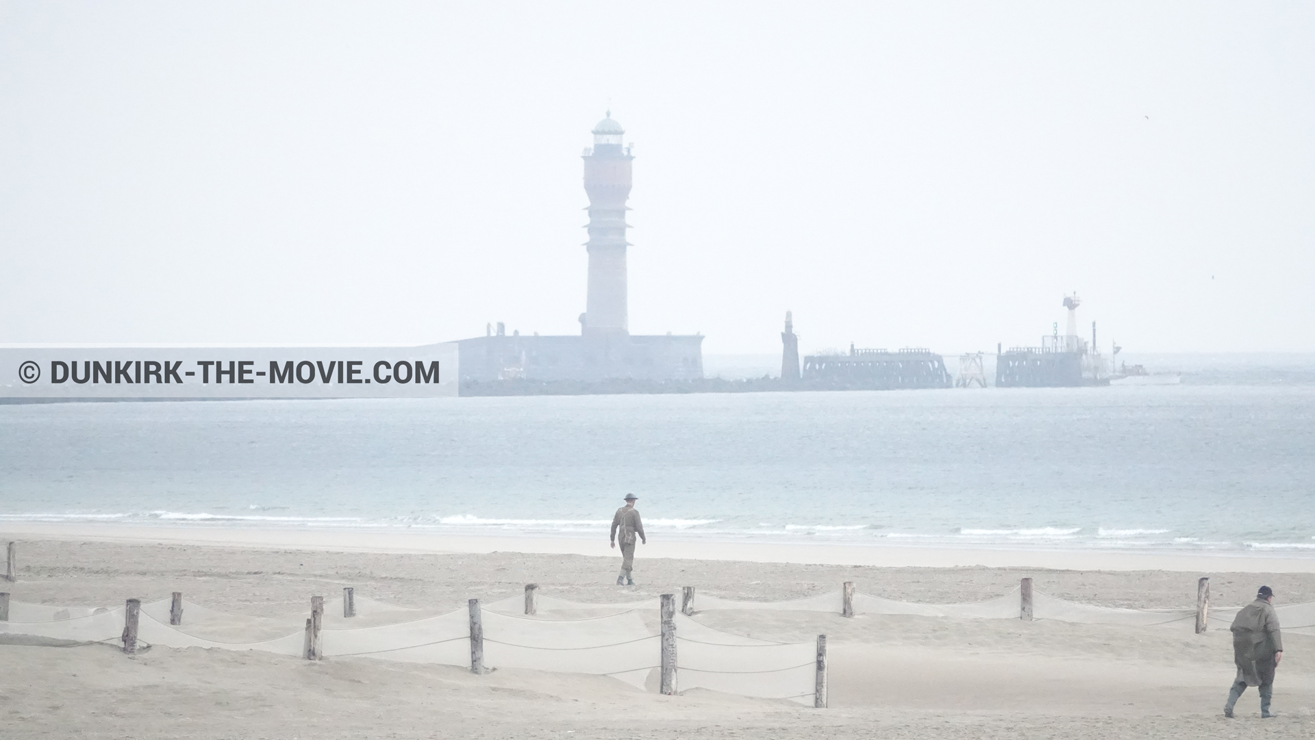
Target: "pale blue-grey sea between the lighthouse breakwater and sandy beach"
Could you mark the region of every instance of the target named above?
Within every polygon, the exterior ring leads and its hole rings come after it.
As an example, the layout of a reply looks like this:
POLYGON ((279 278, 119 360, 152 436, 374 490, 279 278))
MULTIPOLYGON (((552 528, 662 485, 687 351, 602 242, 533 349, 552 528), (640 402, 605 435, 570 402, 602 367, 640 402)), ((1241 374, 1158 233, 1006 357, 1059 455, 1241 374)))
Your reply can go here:
POLYGON ((1315 386, 0 406, 4 520, 1315 556, 1315 386))

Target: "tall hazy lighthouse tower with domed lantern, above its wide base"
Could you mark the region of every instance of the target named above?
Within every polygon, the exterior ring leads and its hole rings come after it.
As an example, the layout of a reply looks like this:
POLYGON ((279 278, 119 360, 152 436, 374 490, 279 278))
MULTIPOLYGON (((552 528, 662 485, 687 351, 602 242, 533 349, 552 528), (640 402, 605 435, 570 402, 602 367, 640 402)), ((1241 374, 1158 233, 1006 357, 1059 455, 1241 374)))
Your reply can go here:
POLYGON ((626 198, 630 197, 630 150, 626 130, 611 110, 593 127, 593 149, 584 152, 584 191, 589 195, 589 297, 580 317, 586 336, 626 335, 626 198))

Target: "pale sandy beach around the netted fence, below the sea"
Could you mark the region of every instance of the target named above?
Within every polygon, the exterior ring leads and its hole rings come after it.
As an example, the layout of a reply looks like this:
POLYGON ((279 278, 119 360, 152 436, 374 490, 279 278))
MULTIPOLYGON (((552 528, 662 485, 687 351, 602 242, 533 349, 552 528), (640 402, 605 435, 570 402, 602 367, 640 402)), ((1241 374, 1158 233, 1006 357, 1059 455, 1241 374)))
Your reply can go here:
MULTIPOLYGON (((1308 568, 1228 570, 1218 567, 1236 564, 1210 557, 1197 559, 1190 570, 1056 569, 1053 561, 1074 553, 1048 561, 1035 552, 1028 568, 934 568, 643 557, 669 551, 654 547, 640 551, 640 585, 617 588, 609 585, 615 565, 609 556, 489 547, 406 552, 405 542, 372 551, 351 538, 339 548, 295 547, 285 542, 296 539, 288 532, 255 530, 201 530, 184 543, 162 531, 33 528, 0 534, 20 548, 18 582, 7 588, 18 601, 62 606, 150 601, 180 590, 197 603, 272 616, 345 586, 397 605, 459 609, 467 598, 518 594, 526 582, 562 598, 621 602, 679 593, 682 585, 727 598, 784 599, 834 590, 842 581, 876 595, 952 603, 1007 593, 1023 576, 1048 594, 1105 606, 1190 606, 1198 576, 1211 577, 1216 603, 1244 603, 1261 582, 1283 602, 1315 601, 1308 568), (225 538, 226 544, 208 542, 225 538)), ((725 545, 723 555, 738 547, 725 545)), ((543 548, 530 543, 523 549, 543 548)), ((934 556, 945 557, 967 556, 934 556)), ((0 723, 9 737, 1315 735, 1315 661, 1308 657, 1315 637, 1304 635, 1286 637, 1276 685, 1282 716, 1260 720, 1248 694, 1239 719, 1227 722, 1219 707, 1233 669, 1222 630, 1195 636, 1053 620, 734 610, 698 619, 782 641, 827 634, 830 708, 700 689, 663 697, 608 677, 533 670, 472 676, 455 666, 371 659, 312 664, 203 648, 151 648, 128 657, 108 645, 3 644, 0 723)))

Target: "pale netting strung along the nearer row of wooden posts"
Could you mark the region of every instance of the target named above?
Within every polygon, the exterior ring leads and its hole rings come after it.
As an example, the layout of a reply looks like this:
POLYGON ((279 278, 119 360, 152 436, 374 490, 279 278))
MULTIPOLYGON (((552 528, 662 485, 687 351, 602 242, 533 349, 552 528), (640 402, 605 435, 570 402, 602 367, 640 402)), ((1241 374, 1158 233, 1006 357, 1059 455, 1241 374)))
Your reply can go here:
MULTIPOLYGON (((558 601, 562 603, 556 606, 568 603, 558 601)), ((484 664, 489 668, 611 676, 631 686, 655 690, 661 665, 661 628, 656 599, 651 601, 652 605, 640 602, 647 609, 623 609, 614 614, 571 619, 560 614, 525 616, 484 609, 480 613, 484 664)), ((589 606, 600 605, 585 605, 585 609, 589 606)), ((168 623, 170 607, 170 599, 142 605, 137 622, 139 644, 304 655, 302 614, 254 618, 183 601, 184 623, 172 626, 168 623)), ((521 607, 523 610, 523 601, 521 607)), ((567 609, 579 610, 580 606, 569 605, 567 609)), ((604 605, 604 609, 618 607, 604 605)), ((24 615, 47 619, 0 622, 0 634, 121 644, 126 609, 92 611, 83 616, 49 619, 58 611, 25 610, 24 615)), ((370 624, 363 618, 351 620, 339 616, 337 624, 330 626, 326 614, 321 655, 326 659, 370 657, 471 665, 468 610, 430 616, 423 616, 422 610, 383 610, 380 614, 405 614, 409 619, 370 624)), ((676 666, 681 689, 702 687, 813 702, 814 645, 759 640, 700 624, 681 614, 676 615, 676 666)))

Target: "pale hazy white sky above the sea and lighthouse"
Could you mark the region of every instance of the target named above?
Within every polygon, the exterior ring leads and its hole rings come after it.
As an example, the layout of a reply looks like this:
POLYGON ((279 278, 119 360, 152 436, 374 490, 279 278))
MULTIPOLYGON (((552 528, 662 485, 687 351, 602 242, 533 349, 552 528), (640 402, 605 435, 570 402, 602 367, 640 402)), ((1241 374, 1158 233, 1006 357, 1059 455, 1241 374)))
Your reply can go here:
POLYGON ((1315 351, 1308 3, 0 3, 0 342, 1315 351))

